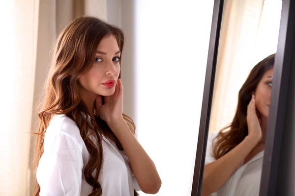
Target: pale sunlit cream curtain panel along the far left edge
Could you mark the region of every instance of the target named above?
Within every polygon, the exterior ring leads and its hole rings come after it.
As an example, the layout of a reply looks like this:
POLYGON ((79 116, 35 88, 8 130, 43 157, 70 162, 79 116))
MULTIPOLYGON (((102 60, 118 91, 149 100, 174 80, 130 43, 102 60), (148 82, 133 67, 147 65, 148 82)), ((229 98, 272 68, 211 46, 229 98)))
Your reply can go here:
POLYGON ((0 195, 28 193, 29 134, 36 59, 38 4, 7 0, 0 6, 0 195))

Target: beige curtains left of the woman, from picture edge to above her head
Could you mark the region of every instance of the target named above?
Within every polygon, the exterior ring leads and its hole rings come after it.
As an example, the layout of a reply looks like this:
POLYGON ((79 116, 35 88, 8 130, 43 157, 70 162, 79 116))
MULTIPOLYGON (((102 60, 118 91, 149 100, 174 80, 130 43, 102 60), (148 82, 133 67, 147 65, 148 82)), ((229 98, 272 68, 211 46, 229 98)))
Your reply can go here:
POLYGON ((56 35, 74 18, 106 20, 106 0, 7 0, 1 2, 0 195, 29 196, 39 102, 56 35))

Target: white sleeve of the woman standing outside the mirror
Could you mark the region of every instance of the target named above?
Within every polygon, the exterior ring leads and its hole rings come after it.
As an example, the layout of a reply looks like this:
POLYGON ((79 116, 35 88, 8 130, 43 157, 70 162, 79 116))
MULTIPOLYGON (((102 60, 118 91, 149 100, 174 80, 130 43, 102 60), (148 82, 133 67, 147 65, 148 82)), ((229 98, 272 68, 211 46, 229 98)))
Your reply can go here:
POLYGON ((82 151, 69 136, 57 134, 44 141, 36 177, 40 196, 80 196, 82 151))

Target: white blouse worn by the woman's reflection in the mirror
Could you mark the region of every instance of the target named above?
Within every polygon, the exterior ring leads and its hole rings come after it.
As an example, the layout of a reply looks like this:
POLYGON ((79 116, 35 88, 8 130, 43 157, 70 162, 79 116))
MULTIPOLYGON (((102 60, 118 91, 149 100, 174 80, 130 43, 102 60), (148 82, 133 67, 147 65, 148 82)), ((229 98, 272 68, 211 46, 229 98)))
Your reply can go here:
MULTIPOLYGON (((215 161, 212 154, 212 141, 217 135, 208 136, 205 165, 215 161)), ((247 163, 241 163, 224 185, 210 196, 259 196, 264 150, 247 163)))

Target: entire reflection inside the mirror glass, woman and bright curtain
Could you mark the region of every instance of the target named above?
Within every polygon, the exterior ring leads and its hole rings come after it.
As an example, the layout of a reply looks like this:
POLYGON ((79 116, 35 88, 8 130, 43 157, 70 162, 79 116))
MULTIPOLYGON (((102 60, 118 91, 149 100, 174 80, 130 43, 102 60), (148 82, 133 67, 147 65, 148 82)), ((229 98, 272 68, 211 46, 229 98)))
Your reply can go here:
POLYGON ((202 196, 258 196, 282 0, 225 0, 202 196))

